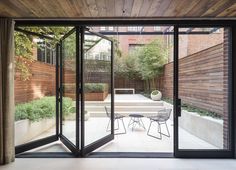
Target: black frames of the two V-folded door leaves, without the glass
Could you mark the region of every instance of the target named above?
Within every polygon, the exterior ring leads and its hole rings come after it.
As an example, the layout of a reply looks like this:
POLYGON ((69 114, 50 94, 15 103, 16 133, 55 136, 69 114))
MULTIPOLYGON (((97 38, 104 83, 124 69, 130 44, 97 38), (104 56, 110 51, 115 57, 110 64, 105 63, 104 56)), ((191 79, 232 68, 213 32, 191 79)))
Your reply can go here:
POLYGON ((60 40, 60 64, 63 63, 63 40, 69 37, 71 34, 76 34, 75 44, 76 44, 76 144, 74 145, 66 136, 63 135, 63 113, 62 113, 62 103, 63 103, 63 67, 60 66, 60 139, 62 143, 72 152, 75 156, 86 156, 93 150, 99 148, 100 146, 106 144, 107 142, 114 139, 114 74, 113 74, 113 42, 99 33, 89 31, 86 27, 76 26, 71 29, 66 35, 64 35, 60 40), (85 146, 85 117, 84 117, 84 41, 85 41, 85 31, 91 33, 92 35, 99 36, 111 42, 111 134, 85 146))

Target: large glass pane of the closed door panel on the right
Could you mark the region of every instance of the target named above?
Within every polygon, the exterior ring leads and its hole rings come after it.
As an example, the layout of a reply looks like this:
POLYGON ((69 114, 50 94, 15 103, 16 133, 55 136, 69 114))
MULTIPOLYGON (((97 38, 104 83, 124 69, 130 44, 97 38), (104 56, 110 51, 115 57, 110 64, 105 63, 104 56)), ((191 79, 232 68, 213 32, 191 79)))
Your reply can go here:
POLYGON ((180 149, 229 149, 228 28, 179 29, 180 149))

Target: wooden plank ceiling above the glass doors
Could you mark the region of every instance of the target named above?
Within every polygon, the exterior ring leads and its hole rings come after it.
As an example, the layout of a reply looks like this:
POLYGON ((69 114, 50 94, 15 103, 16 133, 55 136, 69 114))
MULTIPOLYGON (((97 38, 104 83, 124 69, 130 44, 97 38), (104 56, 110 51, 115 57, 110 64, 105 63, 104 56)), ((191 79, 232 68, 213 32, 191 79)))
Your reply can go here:
POLYGON ((13 18, 233 18, 236 0, 1 0, 13 18))

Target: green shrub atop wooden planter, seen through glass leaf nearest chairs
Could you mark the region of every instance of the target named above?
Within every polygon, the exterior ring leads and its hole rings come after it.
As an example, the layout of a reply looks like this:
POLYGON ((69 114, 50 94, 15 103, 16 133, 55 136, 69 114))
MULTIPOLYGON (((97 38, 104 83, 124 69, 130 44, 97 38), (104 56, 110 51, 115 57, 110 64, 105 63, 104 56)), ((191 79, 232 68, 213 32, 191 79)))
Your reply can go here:
POLYGON ((85 93, 99 93, 104 92, 108 89, 108 85, 106 83, 86 83, 84 85, 85 93))

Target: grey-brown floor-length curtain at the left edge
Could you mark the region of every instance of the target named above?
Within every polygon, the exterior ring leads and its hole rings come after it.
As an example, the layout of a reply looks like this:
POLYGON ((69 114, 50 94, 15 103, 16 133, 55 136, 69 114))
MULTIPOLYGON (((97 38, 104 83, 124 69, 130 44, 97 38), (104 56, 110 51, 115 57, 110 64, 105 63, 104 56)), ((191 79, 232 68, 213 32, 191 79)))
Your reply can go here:
POLYGON ((14 159, 14 22, 0 18, 0 164, 14 159))

